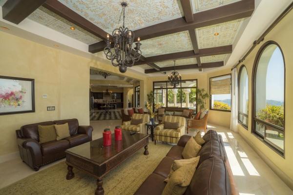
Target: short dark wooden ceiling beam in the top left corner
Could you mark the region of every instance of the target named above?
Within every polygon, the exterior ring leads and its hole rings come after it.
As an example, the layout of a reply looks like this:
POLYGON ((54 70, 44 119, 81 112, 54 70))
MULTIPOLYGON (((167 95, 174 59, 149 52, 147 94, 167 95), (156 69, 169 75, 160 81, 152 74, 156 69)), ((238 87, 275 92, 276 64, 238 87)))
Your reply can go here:
POLYGON ((7 0, 2 6, 2 18, 19 24, 46 0, 7 0))

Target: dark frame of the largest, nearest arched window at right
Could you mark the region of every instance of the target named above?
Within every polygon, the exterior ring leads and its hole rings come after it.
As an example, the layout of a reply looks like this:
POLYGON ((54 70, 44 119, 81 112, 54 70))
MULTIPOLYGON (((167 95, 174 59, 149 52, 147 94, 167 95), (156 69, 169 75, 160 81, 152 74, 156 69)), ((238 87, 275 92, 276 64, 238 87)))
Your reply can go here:
POLYGON ((254 59, 254 63, 253 63, 253 69, 252 69, 252 90, 251 90, 251 134, 253 134, 255 137, 257 137, 259 140, 261 140, 263 143, 265 143, 269 148, 271 148, 273 151, 275 151, 278 155, 282 156, 283 158, 285 158, 285 126, 286 126, 286 63, 285 63, 285 57, 284 57, 284 53, 283 50, 281 49, 280 45, 273 41, 273 40, 269 40, 267 42, 265 42, 258 50, 256 57, 254 59), (283 62, 284 62, 284 128, 282 129, 281 127, 277 126, 277 125, 273 125, 271 123, 268 123, 266 121, 260 120, 259 118, 256 118, 255 114, 255 94, 256 94, 256 72, 257 72, 257 67, 258 67, 258 62, 260 57, 262 56, 264 50, 270 46, 270 45, 276 45, 282 54, 283 57, 283 62), (273 128, 273 131, 282 131, 282 133, 284 134, 284 150, 283 152, 280 151, 278 149, 278 146, 276 146, 275 144, 273 144, 272 142, 270 142, 269 140, 265 139, 265 136, 260 135, 259 133, 256 132, 256 121, 263 124, 263 125, 267 125, 270 126, 271 128, 273 128))

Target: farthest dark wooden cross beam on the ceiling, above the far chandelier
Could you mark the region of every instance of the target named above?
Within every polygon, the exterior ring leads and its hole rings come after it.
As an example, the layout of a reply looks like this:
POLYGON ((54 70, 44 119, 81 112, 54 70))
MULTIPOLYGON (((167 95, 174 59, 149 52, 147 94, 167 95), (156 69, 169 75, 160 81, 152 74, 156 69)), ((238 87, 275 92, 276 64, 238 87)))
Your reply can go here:
MULTIPOLYGON (((201 67, 198 67, 198 64, 181 65, 181 66, 176 66, 176 70, 187 70, 187 69, 197 69, 197 68, 216 68, 216 67, 221 67, 221 66, 224 66, 223 61, 202 63, 201 67)), ((161 68, 161 70, 146 69, 145 74, 164 72, 164 71, 172 71, 172 70, 174 70, 173 66, 163 67, 163 68, 161 68)))

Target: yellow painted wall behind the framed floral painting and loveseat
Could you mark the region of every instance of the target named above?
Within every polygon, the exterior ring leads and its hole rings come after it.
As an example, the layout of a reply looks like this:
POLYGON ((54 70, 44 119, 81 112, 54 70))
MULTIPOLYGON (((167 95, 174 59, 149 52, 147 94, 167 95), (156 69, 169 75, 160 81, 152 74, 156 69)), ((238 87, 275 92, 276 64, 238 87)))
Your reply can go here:
MULTIPOLYGON (((15 130, 22 125, 66 118, 89 124, 89 68, 122 75, 108 61, 96 61, 0 32, 0 75, 34 78, 36 112, 0 116, 0 156, 18 151, 15 130), (48 98, 42 98, 47 94, 48 98), (55 106, 55 111, 47 111, 55 106)), ((127 71, 129 78, 146 77, 127 71)), ((144 91, 141 92, 144 96, 144 91)))

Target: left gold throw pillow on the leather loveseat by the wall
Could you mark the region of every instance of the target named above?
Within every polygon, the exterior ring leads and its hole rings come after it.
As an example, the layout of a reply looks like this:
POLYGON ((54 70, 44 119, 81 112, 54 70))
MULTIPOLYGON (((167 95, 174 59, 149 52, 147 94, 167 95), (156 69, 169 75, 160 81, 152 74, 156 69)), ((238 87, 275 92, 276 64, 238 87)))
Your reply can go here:
POLYGON ((38 125, 40 143, 54 141, 57 138, 54 125, 38 125))

